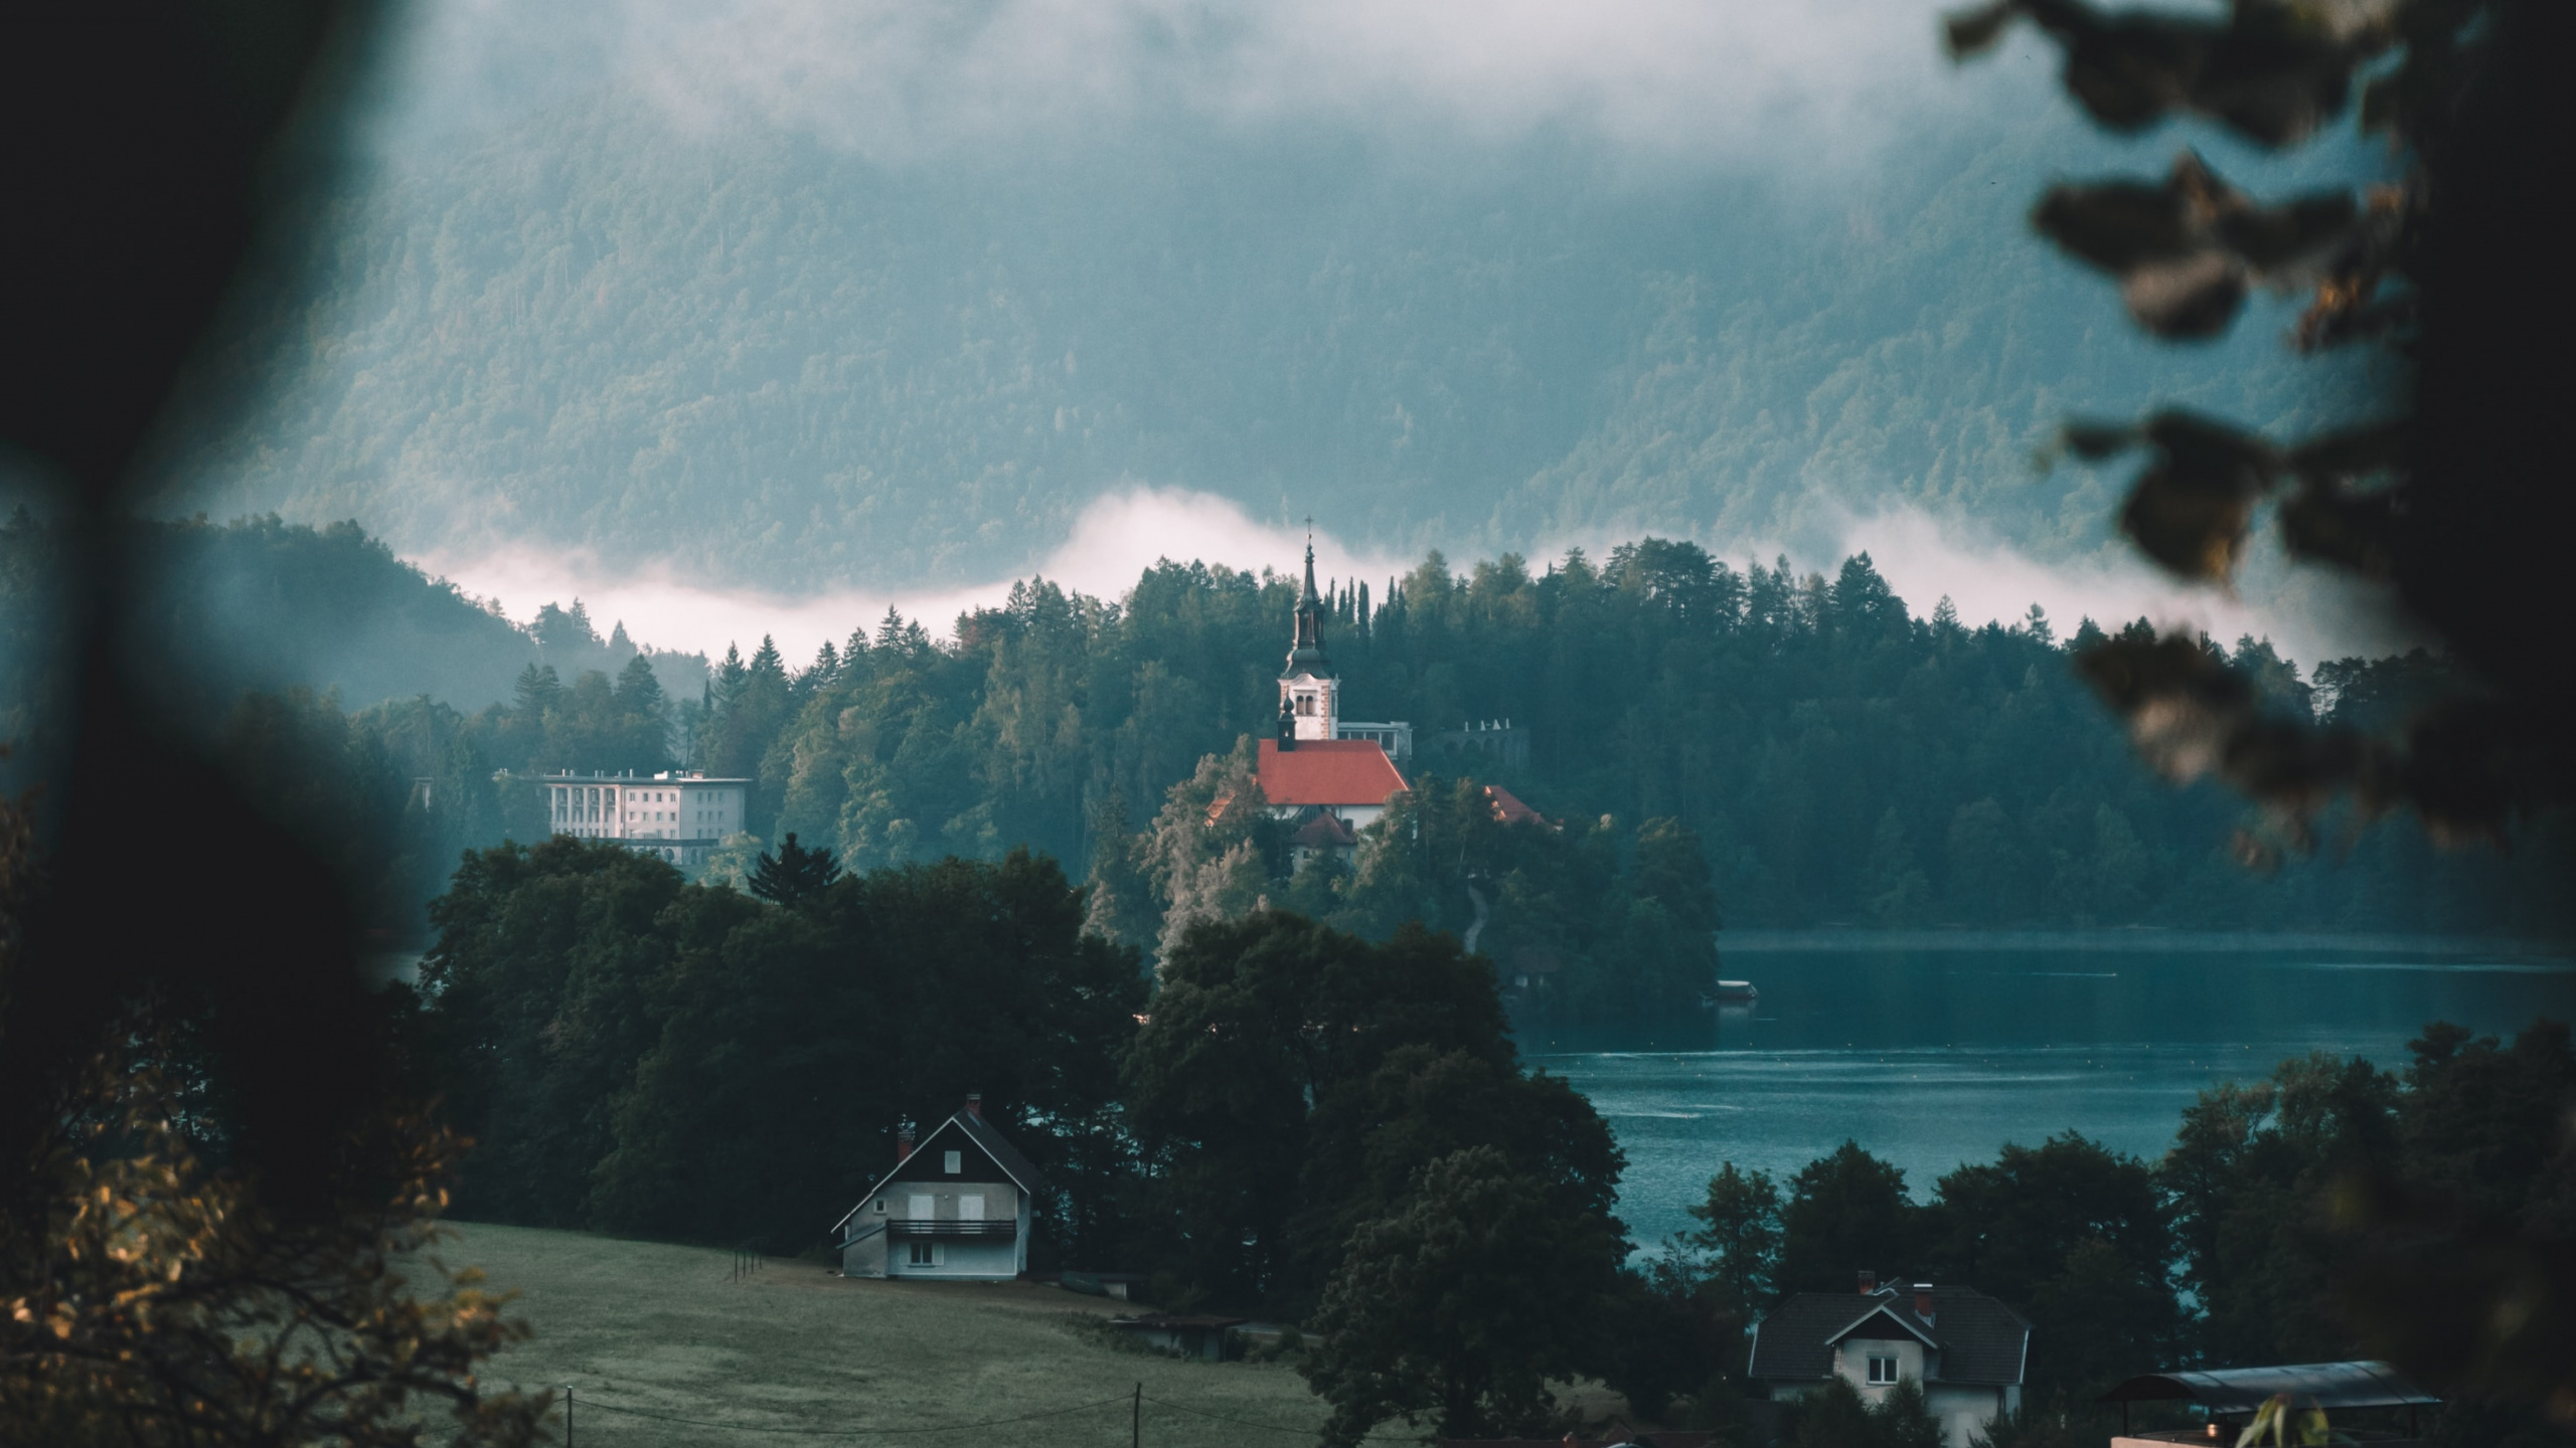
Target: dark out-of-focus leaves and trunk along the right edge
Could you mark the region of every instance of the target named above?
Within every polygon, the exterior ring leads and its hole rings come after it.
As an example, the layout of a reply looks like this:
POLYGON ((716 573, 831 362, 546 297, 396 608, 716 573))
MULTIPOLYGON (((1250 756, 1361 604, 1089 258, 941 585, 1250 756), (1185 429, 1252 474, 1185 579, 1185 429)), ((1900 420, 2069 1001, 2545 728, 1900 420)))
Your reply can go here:
MULTIPOLYGON (((1955 57, 2030 21, 2066 57, 2066 93, 2112 131, 2213 124, 2262 149, 2316 137, 2352 100, 2396 180, 2257 201, 2184 149, 2161 183, 2050 188, 2032 224, 2115 276, 2166 340, 2226 332, 2254 286, 2308 291, 2298 350, 2385 348, 2406 397, 2370 425, 2298 443, 2190 412, 2074 423, 2081 459, 2146 453, 2120 528, 2177 577, 2223 585, 2269 513, 2290 557, 2378 585, 2468 665, 2463 688, 2372 739, 2267 714, 2182 639, 2110 639, 2079 660, 2161 773, 2223 778, 2269 824, 2249 858, 2306 850, 2336 801, 2409 809, 2437 840, 2501 840, 2576 796, 2563 667, 2563 361, 2532 343, 2571 322, 2555 216, 2576 170, 2576 8, 2563 0, 2233 0, 2099 10, 1989 0, 1950 15, 1955 57)), ((2563 1113, 2566 1108, 2561 1108, 2563 1113)), ((2576 1121, 2561 1118, 2563 1134, 2576 1121)), ((2344 1175, 2365 1229, 2339 1268, 2372 1278, 2391 1355, 2452 1391, 2540 1399, 2576 1420, 2576 1252, 2563 1206, 2494 1211, 2470 1183, 2344 1175)), ((2555 1201, 2566 1201, 2566 1185, 2555 1201)))

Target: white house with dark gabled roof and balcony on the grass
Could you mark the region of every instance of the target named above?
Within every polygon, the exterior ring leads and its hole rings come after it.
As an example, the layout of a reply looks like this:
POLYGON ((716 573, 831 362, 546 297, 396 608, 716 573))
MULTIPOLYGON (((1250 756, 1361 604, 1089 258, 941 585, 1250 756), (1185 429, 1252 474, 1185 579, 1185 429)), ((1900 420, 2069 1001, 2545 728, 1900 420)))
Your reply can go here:
POLYGON ((984 1098, 927 1139, 896 1136, 894 1170, 840 1221, 845 1278, 956 1278, 1007 1283, 1028 1270, 1028 1232, 1046 1180, 984 1121, 984 1098))

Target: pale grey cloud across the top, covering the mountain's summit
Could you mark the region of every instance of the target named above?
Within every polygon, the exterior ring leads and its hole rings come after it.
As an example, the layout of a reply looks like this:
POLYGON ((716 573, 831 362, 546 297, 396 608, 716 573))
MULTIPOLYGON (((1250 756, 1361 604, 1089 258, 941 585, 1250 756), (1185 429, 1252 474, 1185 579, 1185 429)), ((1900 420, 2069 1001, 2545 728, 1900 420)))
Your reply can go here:
POLYGON ((876 160, 1128 129, 1321 126, 1381 142, 1564 134, 1633 162, 1803 170, 1904 139, 1960 77, 1924 0, 433 0, 386 70, 394 129, 489 124, 621 80, 677 116, 876 160))

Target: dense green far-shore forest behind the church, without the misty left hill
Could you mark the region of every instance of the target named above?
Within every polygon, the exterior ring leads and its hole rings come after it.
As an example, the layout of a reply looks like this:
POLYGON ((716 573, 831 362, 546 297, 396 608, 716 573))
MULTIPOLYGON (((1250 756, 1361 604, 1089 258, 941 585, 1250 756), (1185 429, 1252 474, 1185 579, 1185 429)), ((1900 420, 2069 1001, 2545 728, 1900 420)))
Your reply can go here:
MULTIPOLYGON (((1649 538, 1546 569, 1507 554, 1453 572, 1435 554, 1329 593, 1345 709, 1414 721, 1417 776, 1502 783, 1566 843, 1605 830, 1610 855, 1680 822, 1728 925, 2563 925, 2558 832, 2496 858, 2370 830, 2249 876, 2228 850, 2241 806, 2148 776, 2069 672, 2089 624, 2058 639, 2038 613, 1917 616, 1868 557, 1826 580, 1649 538), (1499 719, 1525 757, 1458 729, 1499 719)), ((1175 902, 1167 868, 1162 899, 1133 894, 1159 868, 1151 822, 1175 788, 1203 788, 1203 760, 1273 727, 1291 605, 1285 577, 1203 564, 1162 564, 1115 603, 1030 580, 948 642, 886 618, 804 670, 775 649, 729 657, 688 747, 760 781, 757 835, 793 830, 853 866, 1023 843, 1090 861, 1146 946, 1175 902)), ((2221 652, 2277 709, 2360 729, 2442 683, 2427 657, 2300 680, 2259 639, 2221 652)), ((1401 917, 1463 930, 1476 868, 1432 879, 1401 917)))

